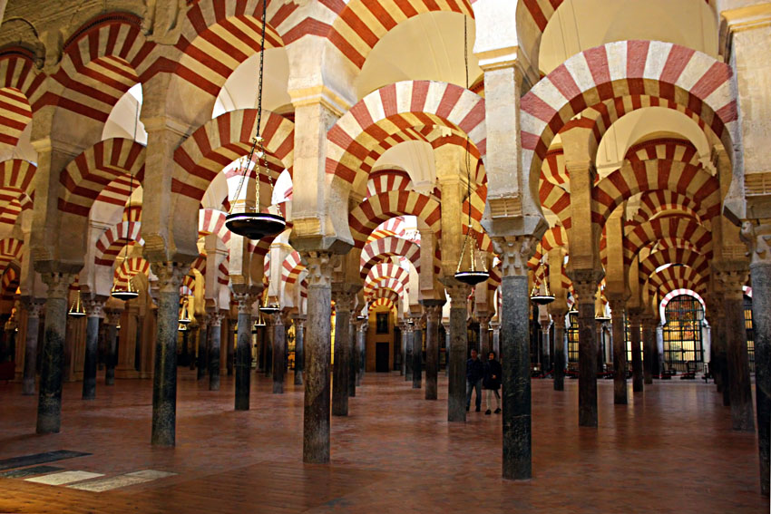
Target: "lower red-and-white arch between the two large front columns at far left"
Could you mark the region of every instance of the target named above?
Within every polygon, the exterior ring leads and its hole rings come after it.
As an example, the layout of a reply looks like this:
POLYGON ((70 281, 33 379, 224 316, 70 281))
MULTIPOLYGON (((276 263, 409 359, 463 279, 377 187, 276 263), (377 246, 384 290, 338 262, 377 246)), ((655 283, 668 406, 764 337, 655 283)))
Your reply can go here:
POLYGON ((64 187, 59 194, 59 209, 87 218, 100 195, 102 200, 115 205, 125 204, 129 175, 133 176, 135 187, 144 179, 145 157, 144 145, 136 141, 99 141, 73 159, 60 175, 64 187), (110 193, 102 194, 107 189, 110 193))

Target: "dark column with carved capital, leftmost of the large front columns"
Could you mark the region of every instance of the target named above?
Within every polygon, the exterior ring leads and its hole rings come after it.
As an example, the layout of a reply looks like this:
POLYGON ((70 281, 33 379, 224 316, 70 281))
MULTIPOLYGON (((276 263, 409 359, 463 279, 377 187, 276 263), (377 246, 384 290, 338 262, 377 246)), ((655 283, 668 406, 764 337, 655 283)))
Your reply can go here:
POLYGON ((45 300, 45 332, 37 402, 37 433, 59 433, 62 422, 64 334, 67 327, 67 293, 73 275, 44 273, 48 286, 45 300))

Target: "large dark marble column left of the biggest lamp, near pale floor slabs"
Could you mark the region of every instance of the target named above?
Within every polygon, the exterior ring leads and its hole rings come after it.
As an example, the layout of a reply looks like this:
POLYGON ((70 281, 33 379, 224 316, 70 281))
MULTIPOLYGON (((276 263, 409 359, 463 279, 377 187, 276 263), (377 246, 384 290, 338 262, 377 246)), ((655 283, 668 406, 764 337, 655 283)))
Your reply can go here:
POLYGON ((152 376, 152 435, 154 446, 174 446, 177 425, 177 328, 180 286, 188 267, 172 262, 151 263, 158 276, 158 325, 152 376))

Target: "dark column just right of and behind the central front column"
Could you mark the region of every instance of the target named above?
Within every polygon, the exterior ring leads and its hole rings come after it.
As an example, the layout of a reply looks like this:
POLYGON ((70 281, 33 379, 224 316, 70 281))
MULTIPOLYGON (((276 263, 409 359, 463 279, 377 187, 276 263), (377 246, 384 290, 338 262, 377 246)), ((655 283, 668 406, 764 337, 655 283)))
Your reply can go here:
POLYGON ((348 380, 351 370, 351 308, 356 296, 335 291, 335 366, 332 380, 332 415, 348 415, 348 380))

